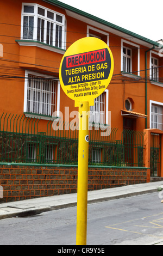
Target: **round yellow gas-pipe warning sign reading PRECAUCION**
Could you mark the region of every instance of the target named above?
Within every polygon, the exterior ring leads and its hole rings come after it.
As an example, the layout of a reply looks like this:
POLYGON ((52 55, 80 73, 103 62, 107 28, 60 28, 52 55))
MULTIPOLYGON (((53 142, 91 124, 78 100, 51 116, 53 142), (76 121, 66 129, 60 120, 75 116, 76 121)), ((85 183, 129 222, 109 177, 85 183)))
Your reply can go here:
POLYGON ((76 102, 94 99, 108 87, 114 70, 114 59, 108 45, 98 38, 87 37, 74 42, 61 60, 60 84, 76 102))

